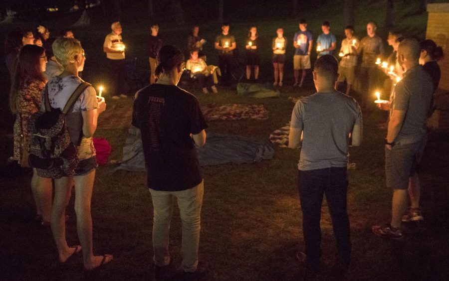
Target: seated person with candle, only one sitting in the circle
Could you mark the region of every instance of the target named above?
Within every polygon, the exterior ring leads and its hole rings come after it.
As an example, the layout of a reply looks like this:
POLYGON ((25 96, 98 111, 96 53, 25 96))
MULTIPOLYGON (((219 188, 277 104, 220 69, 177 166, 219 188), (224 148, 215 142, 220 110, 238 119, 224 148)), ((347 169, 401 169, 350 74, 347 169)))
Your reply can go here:
POLYGON ((208 70, 208 65, 198 57, 197 49, 190 51, 190 59, 187 60, 186 69, 190 71, 192 78, 198 79, 204 94, 209 94, 208 87, 211 87, 213 93, 218 93, 211 72, 208 70))

